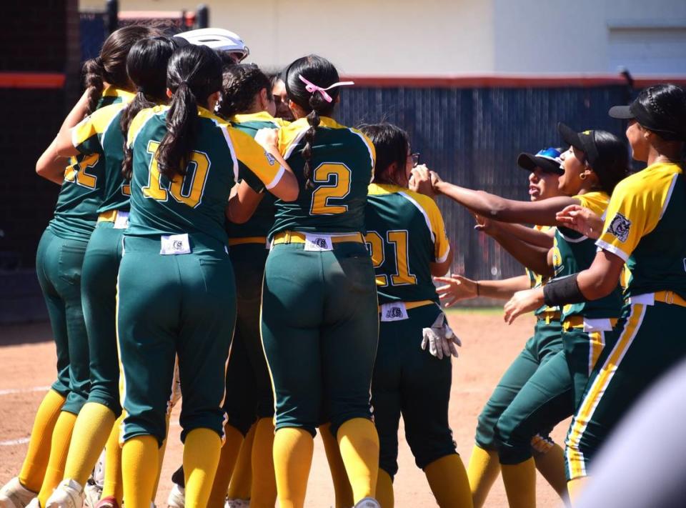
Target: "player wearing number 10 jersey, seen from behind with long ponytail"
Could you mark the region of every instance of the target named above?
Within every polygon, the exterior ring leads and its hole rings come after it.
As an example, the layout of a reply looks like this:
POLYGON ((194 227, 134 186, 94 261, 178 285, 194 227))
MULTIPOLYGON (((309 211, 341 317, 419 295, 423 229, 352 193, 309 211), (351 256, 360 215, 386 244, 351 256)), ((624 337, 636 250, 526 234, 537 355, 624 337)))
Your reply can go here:
POLYGON ((229 201, 229 191, 240 175, 244 182, 259 179, 282 199, 297 196, 275 139, 263 149, 212 114, 222 87, 222 64, 212 49, 174 51, 166 79, 169 106, 139 112, 127 138, 131 215, 119 268, 117 334, 129 508, 149 507, 154 491, 176 354, 186 506, 207 505, 224 432, 225 362, 236 315, 224 213, 237 213, 232 207, 240 204, 229 201))

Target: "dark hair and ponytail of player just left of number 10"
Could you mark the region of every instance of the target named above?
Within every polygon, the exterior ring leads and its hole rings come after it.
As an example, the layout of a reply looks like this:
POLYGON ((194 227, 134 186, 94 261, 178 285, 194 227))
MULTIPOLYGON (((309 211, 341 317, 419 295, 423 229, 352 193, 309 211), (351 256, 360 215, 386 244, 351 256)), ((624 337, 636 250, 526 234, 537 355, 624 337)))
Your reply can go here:
POLYGON ((119 127, 124 134, 124 162, 121 164, 121 174, 126 179, 131 179, 133 169, 133 152, 126 147, 129 126, 141 109, 166 102, 166 66, 175 48, 176 44, 167 37, 142 39, 131 47, 129 56, 126 57, 126 71, 136 86, 136 96, 126 106, 119 121, 119 127))

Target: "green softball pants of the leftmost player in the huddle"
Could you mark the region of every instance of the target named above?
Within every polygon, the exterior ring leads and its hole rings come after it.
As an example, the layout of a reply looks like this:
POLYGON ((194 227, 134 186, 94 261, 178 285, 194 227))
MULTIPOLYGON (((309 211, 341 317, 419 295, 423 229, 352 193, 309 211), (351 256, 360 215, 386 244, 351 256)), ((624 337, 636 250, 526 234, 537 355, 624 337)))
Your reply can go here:
POLYGON ((57 349, 55 392, 66 397, 62 411, 79 414, 88 399, 88 334, 81 307, 81 267, 86 241, 64 239, 46 229, 36 253, 36 274, 57 349))

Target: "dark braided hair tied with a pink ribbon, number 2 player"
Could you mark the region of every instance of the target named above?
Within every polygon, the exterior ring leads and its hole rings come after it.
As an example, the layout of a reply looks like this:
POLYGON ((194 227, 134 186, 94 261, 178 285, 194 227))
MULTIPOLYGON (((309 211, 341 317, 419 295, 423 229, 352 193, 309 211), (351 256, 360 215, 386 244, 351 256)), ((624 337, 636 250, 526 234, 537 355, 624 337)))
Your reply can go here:
POLYGON ((312 188, 314 186, 312 184, 312 151, 314 137, 317 135, 317 127, 319 126, 319 116, 332 115, 336 99, 339 95, 339 89, 334 88, 327 92, 333 99, 331 102, 328 102, 318 91, 307 91, 305 83, 300 79, 300 76, 322 88, 327 88, 337 83, 339 78, 336 67, 327 59, 317 55, 303 56, 290 64, 286 70, 284 82, 288 98, 308 113, 307 123, 309 124, 309 129, 307 129, 304 136, 305 146, 302 149, 302 158, 304 159, 303 174, 306 179, 305 185, 312 188))

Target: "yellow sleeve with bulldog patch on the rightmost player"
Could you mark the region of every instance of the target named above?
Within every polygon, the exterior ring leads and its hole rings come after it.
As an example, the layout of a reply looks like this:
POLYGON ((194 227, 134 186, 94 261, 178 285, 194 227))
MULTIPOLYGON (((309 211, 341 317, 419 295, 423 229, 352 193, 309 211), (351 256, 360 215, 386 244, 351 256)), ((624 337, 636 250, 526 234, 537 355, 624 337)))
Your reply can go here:
POLYGON ((643 236, 660 222, 676 177, 644 169, 620 181, 612 192, 597 246, 627 261, 643 236))

